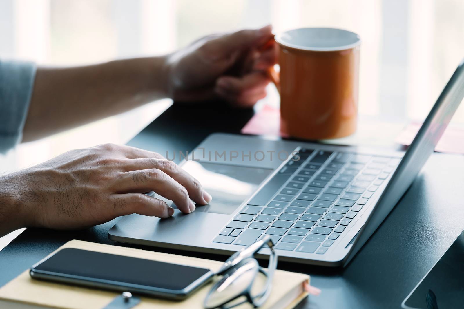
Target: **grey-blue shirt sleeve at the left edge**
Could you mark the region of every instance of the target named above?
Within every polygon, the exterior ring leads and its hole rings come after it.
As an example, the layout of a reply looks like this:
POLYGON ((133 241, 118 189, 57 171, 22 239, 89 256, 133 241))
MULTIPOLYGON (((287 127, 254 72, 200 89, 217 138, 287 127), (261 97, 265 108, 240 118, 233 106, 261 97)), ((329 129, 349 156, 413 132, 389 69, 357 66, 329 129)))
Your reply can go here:
POLYGON ((0 61, 0 152, 22 139, 35 71, 33 63, 0 61))

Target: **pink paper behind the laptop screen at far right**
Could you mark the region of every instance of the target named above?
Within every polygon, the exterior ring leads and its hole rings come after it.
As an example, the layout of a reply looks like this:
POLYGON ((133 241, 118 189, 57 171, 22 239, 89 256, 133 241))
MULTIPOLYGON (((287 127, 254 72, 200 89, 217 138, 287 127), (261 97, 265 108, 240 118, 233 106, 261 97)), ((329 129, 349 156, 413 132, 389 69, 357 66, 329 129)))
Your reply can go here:
MULTIPOLYGON (((406 146, 411 145, 412 139, 416 136, 420 126, 421 123, 419 122, 410 123, 403 132, 398 135, 395 142, 406 146)), ((443 136, 438 141, 435 151, 464 154, 464 130, 448 126, 445 133, 443 133, 443 136)))

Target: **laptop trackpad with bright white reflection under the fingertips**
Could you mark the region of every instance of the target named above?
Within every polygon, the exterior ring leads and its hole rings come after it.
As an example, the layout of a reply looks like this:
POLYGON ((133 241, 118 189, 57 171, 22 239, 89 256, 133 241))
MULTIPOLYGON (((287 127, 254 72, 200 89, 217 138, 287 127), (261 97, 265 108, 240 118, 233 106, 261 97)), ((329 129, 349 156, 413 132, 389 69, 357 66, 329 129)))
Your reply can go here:
MULTIPOLYGON (((215 214, 232 214, 272 172, 271 169, 197 161, 187 161, 182 168, 197 178, 213 196, 211 203, 197 205, 195 211, 215 214)), ((159 195, 156 198, 166 201, 159 195)), ((173 202, 167 202, 177 208, 173 202)))

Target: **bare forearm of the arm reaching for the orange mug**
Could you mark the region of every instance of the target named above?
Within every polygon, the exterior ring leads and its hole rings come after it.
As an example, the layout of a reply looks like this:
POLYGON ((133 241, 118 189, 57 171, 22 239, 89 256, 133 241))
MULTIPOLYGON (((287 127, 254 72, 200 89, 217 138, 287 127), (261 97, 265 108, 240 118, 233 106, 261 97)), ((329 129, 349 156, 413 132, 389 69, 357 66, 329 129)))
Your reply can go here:
POLYGON ((24 126, 31 141, 166 97, 165 57, 39 68, 24 126))

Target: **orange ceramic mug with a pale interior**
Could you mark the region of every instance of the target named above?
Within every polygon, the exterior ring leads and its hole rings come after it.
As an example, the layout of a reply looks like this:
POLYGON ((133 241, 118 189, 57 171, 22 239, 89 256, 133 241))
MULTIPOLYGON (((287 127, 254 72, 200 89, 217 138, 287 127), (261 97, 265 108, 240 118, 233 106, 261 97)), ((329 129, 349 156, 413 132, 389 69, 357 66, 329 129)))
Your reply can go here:
POLYGON ((354 133, 359 36, 334 28, 301 28, 278 34, 275 40, 280 78, 273 79, 280 92, 280 132, 302 139, 354 133))

